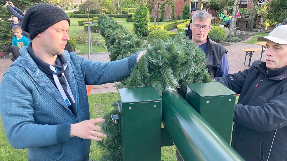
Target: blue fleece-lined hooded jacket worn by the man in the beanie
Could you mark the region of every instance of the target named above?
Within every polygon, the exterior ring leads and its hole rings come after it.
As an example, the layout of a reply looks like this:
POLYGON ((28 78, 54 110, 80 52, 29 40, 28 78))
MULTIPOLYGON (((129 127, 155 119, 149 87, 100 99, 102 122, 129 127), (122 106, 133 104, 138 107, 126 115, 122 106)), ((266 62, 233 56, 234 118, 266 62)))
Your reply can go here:
POLYGON ((86 85, 122 80, 131 73, 139 54, 113 62, 86 61, 65 51, 69 85, 77 117, 63 101, 50 79, 38 69, 27 47, 10 66, 0 84, 0 113, 9 143, 28 148, 29 160, 87 161, 90 139, 71 137, 71 123, 90 119, 86 85), (79 103, 80 102, 80 103, 79 103))

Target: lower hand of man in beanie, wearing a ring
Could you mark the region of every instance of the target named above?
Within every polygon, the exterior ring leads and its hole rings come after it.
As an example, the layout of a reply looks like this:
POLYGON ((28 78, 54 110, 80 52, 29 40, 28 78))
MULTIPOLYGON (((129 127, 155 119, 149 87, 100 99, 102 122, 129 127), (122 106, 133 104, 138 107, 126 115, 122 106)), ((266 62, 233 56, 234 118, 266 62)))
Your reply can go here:
POLYGON ((107 137, 107 135, 98 132, 100 131, 100 126, 97 126, 96 124, 101 123, 103 121, 104 119, 102 118, 96 118, 71 124, 70 137, 76 136, 82 139, 102 141, 102 139, 99 137, 107 137))

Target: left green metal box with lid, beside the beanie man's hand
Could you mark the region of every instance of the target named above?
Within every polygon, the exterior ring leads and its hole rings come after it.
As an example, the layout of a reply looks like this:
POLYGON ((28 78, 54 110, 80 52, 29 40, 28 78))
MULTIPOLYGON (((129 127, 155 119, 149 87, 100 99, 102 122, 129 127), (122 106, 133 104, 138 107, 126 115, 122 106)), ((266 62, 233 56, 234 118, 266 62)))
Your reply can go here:
POLYGON ((161 160, 161 97, 153 87, 119 89, 121 161, 161 160))

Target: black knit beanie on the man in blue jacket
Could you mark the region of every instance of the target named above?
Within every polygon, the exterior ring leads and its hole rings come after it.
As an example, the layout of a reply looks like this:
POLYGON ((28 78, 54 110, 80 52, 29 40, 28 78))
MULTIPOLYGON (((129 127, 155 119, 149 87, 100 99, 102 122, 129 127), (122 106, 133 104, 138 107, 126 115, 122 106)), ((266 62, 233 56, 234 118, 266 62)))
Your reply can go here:
POLYGON ((62 20, 67 20, 70 26, 70 19, 62 9, 49 4, 37 4, 29 8, 24 16, 22 29, 29 32, 33 40, 39 33, 62 20))

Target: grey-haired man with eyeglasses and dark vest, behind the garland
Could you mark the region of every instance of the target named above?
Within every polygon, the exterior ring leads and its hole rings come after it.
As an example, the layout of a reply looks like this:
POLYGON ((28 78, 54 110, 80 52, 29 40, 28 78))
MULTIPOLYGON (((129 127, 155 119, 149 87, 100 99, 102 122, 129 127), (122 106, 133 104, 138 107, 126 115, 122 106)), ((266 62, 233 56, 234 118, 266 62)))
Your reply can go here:
POLYGON ((208 38, 211 30, 211 14, 205 10, 199 10, 192 16, 189 38, 206 53, 206 68, 212 77, 224 77, 229 74, 227 60, 228 50, 208 38))

